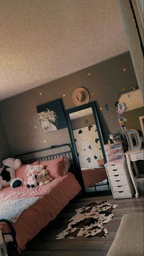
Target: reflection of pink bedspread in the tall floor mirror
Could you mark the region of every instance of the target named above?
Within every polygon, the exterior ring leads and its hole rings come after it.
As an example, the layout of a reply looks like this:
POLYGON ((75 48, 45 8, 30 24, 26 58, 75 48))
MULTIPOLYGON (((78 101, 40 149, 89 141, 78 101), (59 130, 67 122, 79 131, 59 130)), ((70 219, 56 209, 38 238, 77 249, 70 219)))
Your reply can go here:
POLYGON ((84 179, 85 187, 89 187, 95 183, 100 183, 101 181, 104 181, 104 179, 107 179, 107 173, 104 167, 83 168, 82 177, 84 179))

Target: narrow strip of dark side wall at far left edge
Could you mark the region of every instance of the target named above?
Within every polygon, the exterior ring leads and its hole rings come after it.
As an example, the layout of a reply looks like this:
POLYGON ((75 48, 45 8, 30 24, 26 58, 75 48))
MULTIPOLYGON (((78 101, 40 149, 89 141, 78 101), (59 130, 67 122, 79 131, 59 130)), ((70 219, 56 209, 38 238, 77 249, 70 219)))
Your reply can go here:
POLYGON ((4 125, 2 123, 1 115, 0 115, 0 167, 2 166, 1 160, 9 157, 11 155, 9 143, 7 141, 7 137, 5 134, 4 125))

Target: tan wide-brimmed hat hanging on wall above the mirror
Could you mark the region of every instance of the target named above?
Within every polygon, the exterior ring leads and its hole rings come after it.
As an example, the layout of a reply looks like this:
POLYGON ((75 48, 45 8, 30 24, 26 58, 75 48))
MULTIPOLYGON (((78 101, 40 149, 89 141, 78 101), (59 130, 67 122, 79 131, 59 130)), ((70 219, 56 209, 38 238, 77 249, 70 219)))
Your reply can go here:
POLYGON ((72 95, 73 104, 81 106, 89 102, 90 96, 85 88, 79 87, 74 90, 72 95))

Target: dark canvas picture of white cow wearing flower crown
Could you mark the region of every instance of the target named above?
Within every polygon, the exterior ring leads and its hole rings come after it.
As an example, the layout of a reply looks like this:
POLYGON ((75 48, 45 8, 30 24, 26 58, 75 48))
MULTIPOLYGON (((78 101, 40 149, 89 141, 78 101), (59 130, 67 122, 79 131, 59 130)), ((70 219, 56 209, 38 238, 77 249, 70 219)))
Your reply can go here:
POLYGON ((38 105, 36 108, 45 134, 67 127, 61 99, 38 105))

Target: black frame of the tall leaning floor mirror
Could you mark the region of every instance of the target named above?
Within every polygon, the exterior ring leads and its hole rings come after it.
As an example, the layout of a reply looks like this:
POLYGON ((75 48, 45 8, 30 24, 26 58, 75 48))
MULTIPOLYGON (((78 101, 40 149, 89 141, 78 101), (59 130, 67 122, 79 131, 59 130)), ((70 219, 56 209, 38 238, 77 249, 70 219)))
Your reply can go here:
POLYGON ((97 114, 97 111, 96 111, 96 103, 95 102, 89 102, 88 104, 84 104, 84 105, 81 105, 79 107, 74 107, 74 108, 70 108, 68 110, 65 110, 65 116, 66 116, 67 124, 68 124, 68 132, 69 132, 69 135, 70 135, 71 145, 72 145, 72 148, 73 148, 74 162, 75 162, 75 165, 76 165, 76 168, 77 168, 77 177, 76 178, 79 181, 79 183, 81 184, 82 192, 85 192, 85 186, 84 186, 84 181, 83 181, 83 178, 82 178, 82 171, 81 171, 81 165, 79 163, 79 157, 77 156, 76 143, 74 141, 73 129, 71 127, 71 121, 70 121, 69 114, 74 113, 74 112, 79 111, 79 110, 84 110, 85 108, 90 108, 90 107, 92 107, 93 116, 95 118, 95 123, 96 123, 96 127, 97 127, 97 130, 98 130, 98 136, 99 136, 99 141, 100 141, 100 145, 101 145, 101 150, 103 152, 104 162, 106 163, 106 154, 105 154, 105 151, 104 151, 104 141, 103 141, 103 136, 101 134, 101 129, 100 129, 100 126, 99 126, 98 114, 97 114))

